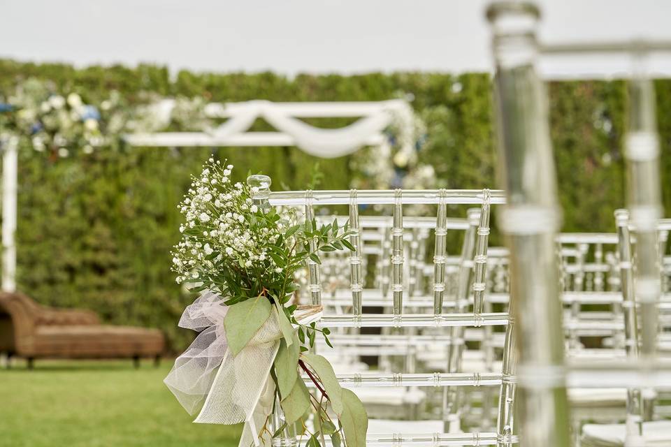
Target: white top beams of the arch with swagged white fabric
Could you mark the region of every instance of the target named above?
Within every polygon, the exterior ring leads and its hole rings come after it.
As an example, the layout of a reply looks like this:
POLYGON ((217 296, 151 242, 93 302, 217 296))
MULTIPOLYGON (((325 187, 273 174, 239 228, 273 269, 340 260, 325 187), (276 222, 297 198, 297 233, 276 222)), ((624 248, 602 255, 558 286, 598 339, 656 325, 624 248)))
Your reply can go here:
MULTIPOLYGON (((156 119, 168 124, 175 101, 154 106, 156 119)), ((205 114, 229 118, 218 127, 198 132, 169 132, 127 135, 132 145, 296 145, 308 154, 333 158, 352 154, 366 145, 381 145, 384 129, 397 126, 403 140, 404 129, 412 129, 413 114, 407 102, 396 99, 362 103, 245 103, 210 104, 205 114), (322 129, 304 122, 305 117, 359 117, 339 129, 322 129), (275 132, 248 132, 257 119, 264 119, 275 132)))

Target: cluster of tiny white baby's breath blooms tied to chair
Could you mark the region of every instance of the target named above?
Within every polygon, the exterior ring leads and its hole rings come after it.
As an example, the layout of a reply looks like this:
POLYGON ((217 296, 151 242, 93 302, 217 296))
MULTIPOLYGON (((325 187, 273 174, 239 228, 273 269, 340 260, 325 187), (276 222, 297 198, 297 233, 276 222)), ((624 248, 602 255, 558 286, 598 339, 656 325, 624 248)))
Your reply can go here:
POLYGON ((252 195, 257 188, 231 182, 233 165, 210 158, 201 176, 194 178, 179 205, 186 218, 180 226, 182 241, 173 251, 173 271, 178 283, 212 282, 222 270, 267 278, 282 274, 268 247, 287 228, 284 219, 264 225, 252 195), (252 219, 256 221, 252 225, 252 219))

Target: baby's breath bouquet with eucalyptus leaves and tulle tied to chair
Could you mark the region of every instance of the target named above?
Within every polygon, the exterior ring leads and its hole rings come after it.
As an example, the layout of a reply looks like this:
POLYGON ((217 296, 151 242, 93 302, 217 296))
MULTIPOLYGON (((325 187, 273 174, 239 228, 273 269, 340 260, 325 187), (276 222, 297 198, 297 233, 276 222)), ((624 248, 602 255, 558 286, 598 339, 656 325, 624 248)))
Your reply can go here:
POLYGON ((295 302, 306 263, 321 263, 320 252, 354 250, 349 226, 299 221, 294 209, 264 200, 268 177, 233 184, 232 170, 210 158, 179 205, 186 222, 173 270, 178 283, 197 283, 192 291, 201 293, 180 326, 200 334, 165 383, 196 422, 244 422, 241 447, 270 446, 277 437, 363 447, 363 404, 312 353, 318 335, 331 346, 329 328, 317 324, 321 306, 295 302))

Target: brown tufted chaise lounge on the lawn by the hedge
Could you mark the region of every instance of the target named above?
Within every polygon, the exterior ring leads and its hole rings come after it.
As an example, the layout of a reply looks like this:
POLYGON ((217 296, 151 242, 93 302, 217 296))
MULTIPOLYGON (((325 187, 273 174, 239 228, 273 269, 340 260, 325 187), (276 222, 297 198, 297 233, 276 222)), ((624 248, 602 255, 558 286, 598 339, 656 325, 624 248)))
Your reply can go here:
POLYGON ((0 353, 36 358, 154 358, 164 351, 157 329, 101 325, 89 310, 38 305, 22 293, 0 292, 0 353))

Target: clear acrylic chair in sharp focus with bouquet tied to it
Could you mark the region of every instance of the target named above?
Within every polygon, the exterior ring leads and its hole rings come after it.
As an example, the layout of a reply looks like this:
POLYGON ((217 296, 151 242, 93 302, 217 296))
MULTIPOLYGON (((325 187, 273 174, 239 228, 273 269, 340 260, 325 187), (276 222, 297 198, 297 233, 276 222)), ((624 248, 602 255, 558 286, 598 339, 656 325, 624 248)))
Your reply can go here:
MULTIPOLYGON (((268 177, 252 178, 255 184, 270 185, 268 177)), ((484 312, 484 292, 486 288, 486 261, 487 245, 489 236, 489 212, 490 206, 503 203, 501 191, 489 190, 431 190, 431 191, 288 191, 273 192, 268 189, 259 191, 259 198, 266 200, 272 206, 296 206, 304 210, 305 221, 312 221, 316 209, 327 205, 330 210, 333 207, 345 205, 348 208, 347 219, 352 230, 350 242, 355 251, 349 254, 349 293, 351 305, 344 307, 345 313, 335 313, 332 307, 326 305, 329 297, 324 293, 322 283, 322 269, 315 261, 308 262, 308 294, 313 305, 324 305, 324 316, 320 324, 331 328, 334 333, 333 345, 355 346, 359 352, 365 352, 366 344, 373 351, 389 350, 390 353, 401 351, 405 354, 405 346, 409 349, 417 349, 426 346, 427 343, 440 342, 447 346, 461 344, 459 337, 463 337, 464 328, 484 328, 489 325, 500 325, 509 328, 507 312, 484 312), (447 205, 479 205, 479 220, 475 228, 475 245, 473 247, 472 268, 468 266, 468 275, 464 272, 461 263, 460 282, 461 287, 466 287, 464 296, 466 300, 454 300, 454 310, 445 312, 449 302, 446 289, 447 270, 447 205), (359 216, 361 205, 386 205, 391 208, 391 247, 384 248, 384 256, 388 256, 389 265, 389 293, 391 295, 391 313, 373 314, 364 312, 368 309, 366 300, 370 295, 364 295, 366 284, 363 274, 363 229, 362 217, 359 216), (404 209, 413 205, 438 205, 435 219, 435 230, 433 230, 433 281, 430 281, 432 305, 430 307, 415 306, 414 298, 410 298, 411 269, 405 249, 405 238, 412 234, 412 230, 405 228, 405 222, 412 222, 412 218, 404 217, 404 209), (463 276, 461 275, 463 274, 463 276), (471 278, 472 277, 472 278, 471 278), (470 285, 470 291, 468 291, 470 285), (410 310, 410 312, 408 312, 410 310), (335 333, 337 328, 347 328, 351 332, 335 333), (368 334, 364 328, 389 328, 389 332, 382 334, 368 334), (356 332, 356 331, 359 332, 356 332), (440 332, 442 331, 442 332, 440 332), (401 337, 396 337, 401 335, 401 337), (433 337, 433 338, 432 338, 433 337), (438 338, 436 338, 438 337, 438 338), (369 341, 370 340, 370 341, 369 341)), ((470 228, 470 227, 469 227, 470 228)), ((463 228, 462 228, 463 230, 463 228)), ((419 248, 419 247, 417 247, 419 248)), ((311 247, 316 249, 316 247, 311 247)), ((468 263, 466 263, 468 264, 468 263)), ((416 266, 417 267, 417 266, 416 266)), ((416 273, 416 272, 415 272, 416 273)), ((417 286, 417 284, 415 284, 417 286)), ((380 295, 377 299, 384 300, 384 283, 380 287, 380 295)), ((418 290, 421 287, 418 288, 418 290)), ((414 289, 413 289, 414 290, 414 289)), ((421 295, 421 294, 419 294, 421 295)), ((417 297, 415 297, 417 298, 417 297)), ((510 332, 510 331, 509 331, 510 332)), ((507 333, 510 338, 510 333, 507 333)), ((368 430, 367 445, 389 445, 389 446, 412 446, 412 445, 463 445, 463 446, 486 446, 505 445, 517 442, 517 438, 509 432, 512 423, 512 404, 514 402, 514 356, 509 341, 505 343, 503 371, 498 372, 459 372, 460 349, 452 349, 447 357, 448 365, 445 372, 407 372, 405 368, 412 369, 413 365, 403 365, 404 370, 393 372, 381 372, 369 370, 368 372, 352 372, 349 374, 338 374, 338 380, 342 386, 350 387, 356 393, 365 388, 373 388, 378 391, 384 388, 411 387, 424 390, 425 393, 435 394, 437 389, 444 389, 448 407, 447 413, 443 412, 442 420, 412 422, 411 426, 405 425, 403 421, 374 421, 371 420, 368 430), (454 362, 452 362, 454 360, 454 362), (456 364, 455 364, 456 363, 456 364), (458 393, 454 391, 463 387, 475 386, 498 387, 500 399, 499 423, 496 432, 479 432, 476 430, 469 433, 438 432, 445 420, 449 419, 449 411, 456 411, 458 405, 449 407, 450 403, 457 403, 458 393), (382 427, 376 429, 376 427, 382 427), (431 428, 427 432, 428 428, 431 428), (407 429, 408 432, 402 432, 407 429), (382 433, 375 433, 382 430, 382 433), (414 433, 413 433, 414 432, 414 433)), ((326 353, 326 349, 317 346, 320 353, 326 353)), ((408 357, 409 358, 409 357, 408 357)), ((277 418, 281 418, 278 414, 277 418)), ((296 434, 287 430, 283 433, 282 445, 295 445, 296 434)))

